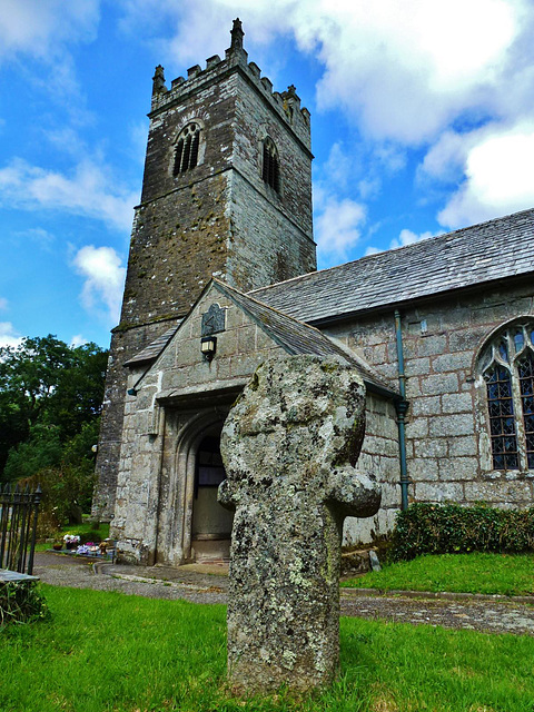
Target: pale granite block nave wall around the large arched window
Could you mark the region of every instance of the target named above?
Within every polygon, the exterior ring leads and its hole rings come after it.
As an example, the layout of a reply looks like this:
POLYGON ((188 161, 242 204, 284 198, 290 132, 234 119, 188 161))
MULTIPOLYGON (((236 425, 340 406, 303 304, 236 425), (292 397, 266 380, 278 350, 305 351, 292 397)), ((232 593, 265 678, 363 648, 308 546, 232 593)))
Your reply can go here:
MULTIPOLYGON (((510 319, 534 314, 532 285, 486 286, 400 312, 409 500, 532 506, 534 472, 493 469, 485 387, 476 373, 476 355, 487 336, 510 319)), ((328 333, 396 378, 393 308, 328 333)))

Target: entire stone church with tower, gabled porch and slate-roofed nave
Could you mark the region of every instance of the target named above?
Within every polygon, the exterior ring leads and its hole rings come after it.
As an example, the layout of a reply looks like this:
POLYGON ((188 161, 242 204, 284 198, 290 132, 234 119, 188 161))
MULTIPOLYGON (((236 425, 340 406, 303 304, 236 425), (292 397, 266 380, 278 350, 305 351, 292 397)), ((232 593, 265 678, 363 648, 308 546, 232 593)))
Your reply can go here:
POLYGON ((358 467, 382 485, 345 542, 409 502, 532 506, 534 210, 316 271, 310 117, 249 62, 167 87, 156 69, 140 205, 113 329, 95 515, 123 560, 226 556, 219 435, 268 356, 353 365, 358 467))

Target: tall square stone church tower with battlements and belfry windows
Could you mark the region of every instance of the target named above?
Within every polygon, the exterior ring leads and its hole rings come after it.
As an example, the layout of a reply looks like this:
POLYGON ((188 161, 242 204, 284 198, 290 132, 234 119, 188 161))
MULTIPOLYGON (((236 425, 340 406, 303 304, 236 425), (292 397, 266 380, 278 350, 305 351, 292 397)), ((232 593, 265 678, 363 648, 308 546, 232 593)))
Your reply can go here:
POLYGON ((170 88, 156 69, 97 456, 101 520, 115 507, 128 359, 176 326, 212 275, 247 291, 316 269, 309 112, 295 87, 273 91, 243 37, 235 20, 225 59, 170 88))

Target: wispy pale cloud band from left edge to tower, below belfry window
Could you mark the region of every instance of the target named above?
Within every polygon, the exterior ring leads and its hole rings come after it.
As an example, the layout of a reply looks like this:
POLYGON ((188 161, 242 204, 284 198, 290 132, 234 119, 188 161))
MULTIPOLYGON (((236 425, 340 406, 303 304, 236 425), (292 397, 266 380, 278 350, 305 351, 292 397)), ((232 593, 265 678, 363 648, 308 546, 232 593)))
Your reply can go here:
POLYGON ((119 187, 105 167, 90 159, 80 161, 70 176, 21 159, 0 169, 0 204, 19 209, 63 210, 127 230, 137 199, 137 192, 119 187))

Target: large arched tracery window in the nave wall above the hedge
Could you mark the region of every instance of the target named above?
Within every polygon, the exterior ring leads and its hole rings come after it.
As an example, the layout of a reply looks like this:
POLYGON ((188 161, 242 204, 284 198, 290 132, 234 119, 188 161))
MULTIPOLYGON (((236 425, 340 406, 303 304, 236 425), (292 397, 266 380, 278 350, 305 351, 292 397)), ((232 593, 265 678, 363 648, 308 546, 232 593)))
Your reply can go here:
POLYGON ((495 469, 534 469, 534 323, 515 324, 481 356, 495 469))

